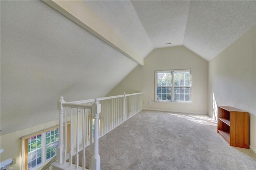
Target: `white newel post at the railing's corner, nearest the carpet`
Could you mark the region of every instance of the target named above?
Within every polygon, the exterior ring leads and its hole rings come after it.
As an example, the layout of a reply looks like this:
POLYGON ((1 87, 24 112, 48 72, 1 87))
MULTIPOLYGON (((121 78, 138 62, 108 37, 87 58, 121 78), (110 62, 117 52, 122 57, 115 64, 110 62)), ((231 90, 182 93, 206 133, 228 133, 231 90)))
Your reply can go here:
MULTIPOLYGON (((90 170, 100 170, 100 155, 99 155, 99 114, 100 114, 100 102, 95 99, 92 105, 92 113, 94 114, 94 152, 92 159, 90 160, 90 170)), ((92 139, 91 139, 92 140, 92 139)))

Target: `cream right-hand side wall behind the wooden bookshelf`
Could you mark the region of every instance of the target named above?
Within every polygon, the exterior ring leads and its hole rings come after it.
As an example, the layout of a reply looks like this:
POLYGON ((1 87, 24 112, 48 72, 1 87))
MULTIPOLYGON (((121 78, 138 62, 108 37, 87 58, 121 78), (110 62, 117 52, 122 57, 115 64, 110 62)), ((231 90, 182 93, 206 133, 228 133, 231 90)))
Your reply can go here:
POLYGON ((208 114, 212 93, 217 105, 249 112, 250 148, 256 148, 256 44, 255 26, 209 62, 208 114))

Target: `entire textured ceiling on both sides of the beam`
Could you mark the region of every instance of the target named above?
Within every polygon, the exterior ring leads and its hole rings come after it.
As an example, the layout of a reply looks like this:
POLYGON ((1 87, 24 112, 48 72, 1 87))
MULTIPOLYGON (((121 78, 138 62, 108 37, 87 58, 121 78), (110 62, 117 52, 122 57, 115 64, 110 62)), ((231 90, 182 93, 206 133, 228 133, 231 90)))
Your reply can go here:
MULTIPOLYGON (((1 135, 103 97, 138 64, 42 1, 1 0, 1 135)), ((256 24, 255 1, 83 1, 144 58, 184 45, 207 61, 256 24), (166 45, 166 43, 170 43, 166 45)))

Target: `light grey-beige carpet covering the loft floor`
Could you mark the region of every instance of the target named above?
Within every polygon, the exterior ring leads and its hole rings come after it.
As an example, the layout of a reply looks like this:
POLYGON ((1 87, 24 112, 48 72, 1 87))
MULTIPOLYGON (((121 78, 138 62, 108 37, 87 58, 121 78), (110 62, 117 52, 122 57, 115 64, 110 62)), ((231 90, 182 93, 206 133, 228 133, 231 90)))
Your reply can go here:
POLYGON ((141 111, 100 138, 99 154, 102 170, 256 169, 256 155, 229 146, 206 115, 141 111))

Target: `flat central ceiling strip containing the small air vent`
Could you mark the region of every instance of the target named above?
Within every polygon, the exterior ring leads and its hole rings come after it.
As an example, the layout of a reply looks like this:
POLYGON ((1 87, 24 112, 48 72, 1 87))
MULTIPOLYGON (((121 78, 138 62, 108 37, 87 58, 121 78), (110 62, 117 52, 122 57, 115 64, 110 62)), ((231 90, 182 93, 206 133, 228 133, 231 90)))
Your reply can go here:
POLYGON ((154 48, 183 44, 189 1, 132 1, 154 48), (171 45, 166 43, 171 42, 171 45))

